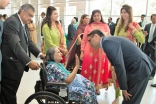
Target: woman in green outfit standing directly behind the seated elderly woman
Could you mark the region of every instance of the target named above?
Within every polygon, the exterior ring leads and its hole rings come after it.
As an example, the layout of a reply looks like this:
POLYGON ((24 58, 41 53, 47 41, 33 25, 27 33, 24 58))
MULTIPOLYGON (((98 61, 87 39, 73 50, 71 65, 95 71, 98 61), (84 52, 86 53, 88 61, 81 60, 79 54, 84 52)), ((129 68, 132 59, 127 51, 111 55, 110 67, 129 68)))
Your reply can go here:
MULTIPOLYGON (((44 36, 43 53, 46 53, 50 47, 57 46, 63 55, 67 54, 66 38, 61 24, 58 22, 58 12, 55 7, 49 6, 46 12, 45 24, 42 28, 44 36)), ((62 63, 65 63, 63 56, 62 63)))

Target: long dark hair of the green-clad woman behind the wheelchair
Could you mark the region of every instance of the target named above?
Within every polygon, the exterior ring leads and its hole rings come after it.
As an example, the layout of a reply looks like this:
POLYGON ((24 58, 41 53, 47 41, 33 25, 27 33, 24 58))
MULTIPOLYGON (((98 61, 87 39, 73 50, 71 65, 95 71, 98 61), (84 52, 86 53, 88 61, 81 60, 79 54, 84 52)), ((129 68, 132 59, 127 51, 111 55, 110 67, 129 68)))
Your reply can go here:
MULTIPOLYGON (((46 18, 45 18, 45 23, 48 24, 48 27, 51 29, 51 24, 52 24, 52 21, 51 21, 51 15, 53 13, 53 11, 57 10, 55 7, 53 6, 49 6, 47 8, 47 12, 46 12, 46 18)), ((56 23, 58 24, 59 22, 56 21, 56 23)))

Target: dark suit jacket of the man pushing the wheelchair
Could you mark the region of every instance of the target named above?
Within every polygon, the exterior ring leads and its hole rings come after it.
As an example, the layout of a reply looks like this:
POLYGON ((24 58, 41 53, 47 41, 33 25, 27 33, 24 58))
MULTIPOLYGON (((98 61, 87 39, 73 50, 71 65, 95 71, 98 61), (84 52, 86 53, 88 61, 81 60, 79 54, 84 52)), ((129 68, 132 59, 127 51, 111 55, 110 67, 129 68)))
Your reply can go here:
POLYGON ((31 61, 27 55, 29 52, 38 56, 40 51, 29 38, 28 27, 26 27, 28 43, 24 30, 17 14, 10 16, 4 22, 2 35, 2 77, 13 80, 20 80, 24 70, 28 71, 26 64, 31 61))

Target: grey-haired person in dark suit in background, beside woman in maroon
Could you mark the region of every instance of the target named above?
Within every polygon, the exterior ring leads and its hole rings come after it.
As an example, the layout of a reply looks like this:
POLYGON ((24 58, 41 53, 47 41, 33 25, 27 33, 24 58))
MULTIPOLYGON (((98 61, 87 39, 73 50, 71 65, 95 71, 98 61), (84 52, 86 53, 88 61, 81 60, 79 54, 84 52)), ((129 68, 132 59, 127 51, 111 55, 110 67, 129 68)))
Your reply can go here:
POLYGON ((71 24, 68 26, 68 36, 67 36, 67 40, 68 40, 67 49, 68 50, 70 48, 71 42, 72 42, 75 32, 76 32, 76 29, 74 28, 75 24, 76 24, 76 20, 72 19, 71 24))

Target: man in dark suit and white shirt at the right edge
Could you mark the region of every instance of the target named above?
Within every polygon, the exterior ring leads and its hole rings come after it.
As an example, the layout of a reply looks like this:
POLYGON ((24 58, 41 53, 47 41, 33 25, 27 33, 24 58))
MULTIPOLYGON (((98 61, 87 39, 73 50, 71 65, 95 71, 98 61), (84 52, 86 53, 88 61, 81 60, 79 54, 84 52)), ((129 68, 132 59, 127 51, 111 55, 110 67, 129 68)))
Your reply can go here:
MULTIPOLYGON (((155 45, 156 45, 156 14, 151 15, 152 23, 149 23, 144 28, 144 34, 146 35, 145 43, 143 46, 143 52, 151 57, 152 61, 155 62, 155 45)), ((151 73, 150 80, 155 76, 154 69, 151 73)))

